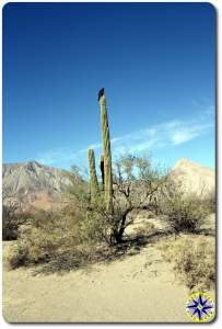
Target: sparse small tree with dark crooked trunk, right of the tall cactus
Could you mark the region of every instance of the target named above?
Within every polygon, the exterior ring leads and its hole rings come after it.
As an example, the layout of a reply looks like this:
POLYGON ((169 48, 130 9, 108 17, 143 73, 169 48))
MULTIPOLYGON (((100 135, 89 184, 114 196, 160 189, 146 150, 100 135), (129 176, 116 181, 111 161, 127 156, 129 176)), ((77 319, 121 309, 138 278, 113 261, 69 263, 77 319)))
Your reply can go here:
POLYGON ((116 222, 112 239, 118 243, 121 242, 127 226, 133 222, 130 216, 132 211, 157 211, 156 200, 166 174, 153 169, 149 158, 132 155, 119 158, 113 172, 116 222))

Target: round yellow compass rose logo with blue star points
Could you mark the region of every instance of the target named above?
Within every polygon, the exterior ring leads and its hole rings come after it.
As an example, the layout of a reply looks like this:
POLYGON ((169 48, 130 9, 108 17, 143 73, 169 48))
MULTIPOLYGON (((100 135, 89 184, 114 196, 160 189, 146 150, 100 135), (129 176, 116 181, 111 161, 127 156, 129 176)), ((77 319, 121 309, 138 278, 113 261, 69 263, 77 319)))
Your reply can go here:
POLYGON ((187 300, 186 311, 197 322, 209 321, 214 315, 213 299, 207 293, 195 293, 187 300))

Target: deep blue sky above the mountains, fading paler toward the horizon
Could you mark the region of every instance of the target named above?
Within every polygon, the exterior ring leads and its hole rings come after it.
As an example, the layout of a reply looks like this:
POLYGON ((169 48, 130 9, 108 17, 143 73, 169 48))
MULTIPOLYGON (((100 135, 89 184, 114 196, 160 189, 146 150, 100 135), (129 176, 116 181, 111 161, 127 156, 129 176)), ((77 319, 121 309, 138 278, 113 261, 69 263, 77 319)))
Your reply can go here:
POLYGON ((114 157, 214 168, 214 20, 208 3, 4 5, 3 161, 98 157, 105 87, 114 157))

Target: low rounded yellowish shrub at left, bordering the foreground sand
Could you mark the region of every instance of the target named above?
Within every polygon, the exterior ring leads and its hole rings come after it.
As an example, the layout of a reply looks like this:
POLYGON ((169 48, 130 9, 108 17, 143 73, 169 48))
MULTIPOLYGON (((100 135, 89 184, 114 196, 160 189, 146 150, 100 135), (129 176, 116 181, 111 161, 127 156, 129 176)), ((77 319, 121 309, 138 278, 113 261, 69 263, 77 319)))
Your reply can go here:
POLYGON ((19 239, 10 250, 10 266, 50 261, 67 245, 79 242, 73 218, 61 216, 59 212, 36 212, 30 223, 19 229, 19 239))

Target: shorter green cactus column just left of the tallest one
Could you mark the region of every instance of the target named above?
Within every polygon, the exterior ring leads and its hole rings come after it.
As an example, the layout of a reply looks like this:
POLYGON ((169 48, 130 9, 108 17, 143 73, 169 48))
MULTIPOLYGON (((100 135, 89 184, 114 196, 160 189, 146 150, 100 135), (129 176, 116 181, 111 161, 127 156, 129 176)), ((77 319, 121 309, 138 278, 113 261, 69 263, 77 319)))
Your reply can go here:
POLYGON ((90 168, 90 194, 91 194, 91 202, 93 203, 98 194, 98 181, 96 177, 96 170, 95 170, 95 157, 94 157, 94 150, 89 149, 87 150, 87 161, 89 161, 89 168, 90 168))

